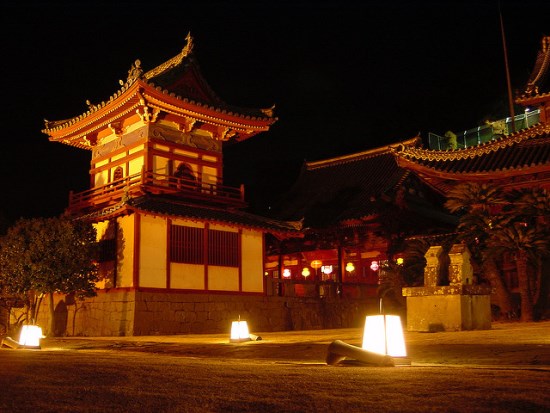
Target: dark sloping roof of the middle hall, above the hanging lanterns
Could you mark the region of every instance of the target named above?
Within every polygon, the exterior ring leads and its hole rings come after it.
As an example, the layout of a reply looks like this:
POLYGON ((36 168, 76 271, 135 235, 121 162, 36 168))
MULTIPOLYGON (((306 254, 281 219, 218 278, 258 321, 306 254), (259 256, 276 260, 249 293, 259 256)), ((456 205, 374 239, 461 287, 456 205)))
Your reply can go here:
MULTIPOLYGON (((282 199, 278 216, 303 220, 304 227, 356 226, 375 220, 389 209, 399 210, 409 223, 418 214, 436 213, 425 199, 402 194, 406 206, 398 205, 400 191, 410 172, 395 159, 395 147, 416 147, 419 138, 346 156, 304 164, 297 182, 282 199), (413 199, 414 198, 414 199, 413 199), (413 213, 414 210, 414 213, 413 213)), ((421 185, 417 182, 417 184, 421 185)))

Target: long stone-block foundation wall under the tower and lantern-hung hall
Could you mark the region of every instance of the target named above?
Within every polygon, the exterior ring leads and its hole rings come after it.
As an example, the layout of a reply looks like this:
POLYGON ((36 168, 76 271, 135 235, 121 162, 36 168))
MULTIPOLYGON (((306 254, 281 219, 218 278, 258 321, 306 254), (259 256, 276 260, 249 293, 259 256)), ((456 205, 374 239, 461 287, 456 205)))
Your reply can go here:
MULTIPOLYGON (((154 292, 100 292, 84 302, 59 296, 56 334, 131 336, 226 333, 239 316, 251 332, 363 327, 378 299, 243 296, 154 292), (75 317, 76 310, 76 317, 75 317), (73 329, 74 322, 74 329, 73 329)), ((38 323, 47 326, 47 303, 38 323)))

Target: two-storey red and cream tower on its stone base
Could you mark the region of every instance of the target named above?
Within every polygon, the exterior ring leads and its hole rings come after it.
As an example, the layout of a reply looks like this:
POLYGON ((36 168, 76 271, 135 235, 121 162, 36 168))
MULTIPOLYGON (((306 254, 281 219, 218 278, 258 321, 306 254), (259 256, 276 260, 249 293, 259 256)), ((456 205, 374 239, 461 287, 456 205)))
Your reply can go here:
MULTIPOLYGON (((102 281, 97 297, 72 310, 61 303, 76 317, 69 333, 220 331, 231 317, 261 313, 242 300, 265 295, 264 234, 298 228, 245 212, 244 188, 223 183, 222 146, 268 131, 273 109, 216 96, 191 36, 152 70, 137 60, 120 85, 107 101, 87 102, 85 113, 43 130, 91 153, 90 189, 70 194, 67 214, 95 225, 102 281)), ((263 320, 256 328, 276 328, 263 320)))

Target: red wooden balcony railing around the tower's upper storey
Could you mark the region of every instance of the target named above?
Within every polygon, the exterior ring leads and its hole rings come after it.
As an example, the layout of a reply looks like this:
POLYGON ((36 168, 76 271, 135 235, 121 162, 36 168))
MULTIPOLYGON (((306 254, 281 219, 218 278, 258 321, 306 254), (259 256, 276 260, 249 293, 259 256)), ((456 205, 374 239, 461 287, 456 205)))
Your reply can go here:
POLYGON ((240 188, 204 182, 199 179, 176 178, 174 176, 142 172, 106 185, 86 191, 69 194, 70 213, 106 208, 121 202, 124 198, 150 194, 169 194, 195 201, 245 206, 244 186, 240 188))

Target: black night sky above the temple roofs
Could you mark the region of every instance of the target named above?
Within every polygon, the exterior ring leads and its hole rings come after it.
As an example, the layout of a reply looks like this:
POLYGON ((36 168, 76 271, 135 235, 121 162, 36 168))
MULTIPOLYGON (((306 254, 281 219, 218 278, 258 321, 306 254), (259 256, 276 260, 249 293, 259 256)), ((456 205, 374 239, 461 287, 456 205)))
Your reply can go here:
MULTIPOLYGON (((88 188, 90 153, 50 143, 43 119, 107 100, 140 59, 177 54, 191 31, 202 72, 226 102, 276 104, 268 133, 227 148, 226 183, 256 212, 304 160, 444 134, 506 116, 495 1, 5 2, 0 215, 51 216, 88 188)), ((521 88, 549 1, 501 2, 512 85, 521 88)))

